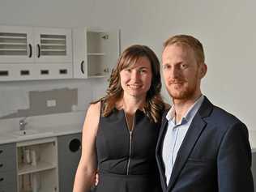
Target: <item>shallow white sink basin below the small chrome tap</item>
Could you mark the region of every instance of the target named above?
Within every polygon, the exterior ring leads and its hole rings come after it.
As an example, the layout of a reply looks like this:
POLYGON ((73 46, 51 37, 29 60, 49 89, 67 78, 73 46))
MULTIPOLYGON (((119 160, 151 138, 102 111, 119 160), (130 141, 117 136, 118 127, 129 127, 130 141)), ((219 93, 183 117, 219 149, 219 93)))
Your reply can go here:
POLYGON ((12 134, 15 137, 18 138, 25 138, 25 137, 43 137, 43 136, 50 136, 50 134, 53 134, 52 131, 43 131, 43 130, 17 130, 12 132, 12 134))

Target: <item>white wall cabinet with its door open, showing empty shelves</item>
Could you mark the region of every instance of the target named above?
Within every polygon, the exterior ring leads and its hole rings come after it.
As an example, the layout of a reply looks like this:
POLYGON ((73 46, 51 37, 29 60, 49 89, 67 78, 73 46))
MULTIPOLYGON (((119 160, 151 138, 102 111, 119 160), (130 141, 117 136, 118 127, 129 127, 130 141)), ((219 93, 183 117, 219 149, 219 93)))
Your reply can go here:
POLYGON ((120 31, 73 30, 74 78, 109 76, 120 54, 120 31))

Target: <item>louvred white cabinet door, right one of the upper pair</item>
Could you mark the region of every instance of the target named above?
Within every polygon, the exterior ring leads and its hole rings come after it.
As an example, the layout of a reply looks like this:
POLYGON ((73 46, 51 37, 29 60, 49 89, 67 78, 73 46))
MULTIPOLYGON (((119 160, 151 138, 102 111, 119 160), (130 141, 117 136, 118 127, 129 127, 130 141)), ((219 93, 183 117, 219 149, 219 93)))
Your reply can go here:
POLYGON ((34 28, 36 62, 72 62, 72 33, 65 28, 34 28))

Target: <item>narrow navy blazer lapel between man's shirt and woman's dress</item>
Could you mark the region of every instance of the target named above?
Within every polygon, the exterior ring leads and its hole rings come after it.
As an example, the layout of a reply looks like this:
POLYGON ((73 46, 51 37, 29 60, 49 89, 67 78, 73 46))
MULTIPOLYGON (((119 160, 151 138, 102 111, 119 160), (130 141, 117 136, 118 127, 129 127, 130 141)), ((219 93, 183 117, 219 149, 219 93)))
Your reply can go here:
POLYGON ((158 166, 158 169, 159 169, 159 172, 160 172, 161 185, 162 185, 164 190, 167 189, 167 185, 166 185, 166 179, 165 179, 165 173, 164 173, 164 164, 163 164, 161 152, 162 152, 164 134, 165 134, 167 126, 168 126, 168 121, 165 118, 166 114, 167 113, 164 113, 164 115, 163 115, 162 125, 160 127, 160 133, 159 133, 158 140, 157 140, 157 143, 156 143, 156 162, 157 162, 157 166, 158 166))

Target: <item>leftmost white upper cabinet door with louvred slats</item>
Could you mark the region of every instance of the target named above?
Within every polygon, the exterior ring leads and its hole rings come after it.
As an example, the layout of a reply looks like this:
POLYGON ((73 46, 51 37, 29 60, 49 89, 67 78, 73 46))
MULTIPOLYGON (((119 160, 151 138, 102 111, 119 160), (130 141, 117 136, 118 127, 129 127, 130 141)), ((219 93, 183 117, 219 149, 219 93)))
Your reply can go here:
POLYGON ((32 28, 0 26, 0 64, 33 62, 32 28))

